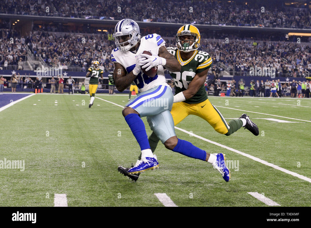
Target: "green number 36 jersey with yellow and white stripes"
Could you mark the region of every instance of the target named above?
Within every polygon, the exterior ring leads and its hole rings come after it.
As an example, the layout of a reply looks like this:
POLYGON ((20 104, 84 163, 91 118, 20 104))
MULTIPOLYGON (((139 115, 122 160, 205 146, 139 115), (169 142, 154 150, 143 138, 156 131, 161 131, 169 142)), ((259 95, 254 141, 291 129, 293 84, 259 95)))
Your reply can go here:
MULTIPOLYGON (((167 51, 174 55, 181 65, 180 72, 169 72, 175 82, 175 94, 186 90, 197 73, 201 73, 212 65, 211 56, 204 51, 195 50, 188 60, 181 58, 180 51, 177 47, 168 47, 167 51)), ((193 97, 183 102, 197 104, 205 101, 207 98, 205 86, 202 85, 193 97)))

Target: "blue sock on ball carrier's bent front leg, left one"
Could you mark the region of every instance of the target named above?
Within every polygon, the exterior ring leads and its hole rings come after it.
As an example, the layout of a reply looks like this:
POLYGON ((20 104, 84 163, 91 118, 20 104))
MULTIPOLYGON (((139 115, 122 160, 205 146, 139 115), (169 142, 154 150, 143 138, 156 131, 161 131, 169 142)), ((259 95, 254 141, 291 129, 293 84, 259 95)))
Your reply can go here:
POLYGON ((131 131, 133 135, 135 136, 140 149, 146 150, 150 149, 148 136, 146 133, 146 128, 144 122, 142 122, 142 119, 139 117, 139 115, 131 113, 128 114, 125 117, 126 123, 128 123, 128 126, 131 128, 131 131))

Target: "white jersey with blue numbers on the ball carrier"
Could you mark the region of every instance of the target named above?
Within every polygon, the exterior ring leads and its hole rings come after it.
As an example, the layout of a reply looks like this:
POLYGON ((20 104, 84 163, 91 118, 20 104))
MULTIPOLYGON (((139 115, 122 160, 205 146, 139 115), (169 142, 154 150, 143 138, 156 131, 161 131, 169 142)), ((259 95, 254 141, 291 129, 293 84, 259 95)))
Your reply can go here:
MULTIPOLYGON (((118 48, 114 49, 111 52, 111 61, 120 63, 129 74, 135 68, 136 57, 139 53, 142 51, 151 51, 152 55, 158 55, 159 48, 162 46, 165 46, 165 41, 161 36, 156 33, 150 34, 140 39, 140 45, 136 53, 132 51, 120 51, 118 48)), ((140 92, 145 92, 159 85, 169 86, 166 83, 162 65, 158 65, 158 72, 154 78, 148 77, 141 71, 134 79, 134 83, 140 92)))

